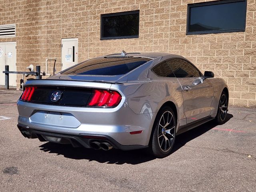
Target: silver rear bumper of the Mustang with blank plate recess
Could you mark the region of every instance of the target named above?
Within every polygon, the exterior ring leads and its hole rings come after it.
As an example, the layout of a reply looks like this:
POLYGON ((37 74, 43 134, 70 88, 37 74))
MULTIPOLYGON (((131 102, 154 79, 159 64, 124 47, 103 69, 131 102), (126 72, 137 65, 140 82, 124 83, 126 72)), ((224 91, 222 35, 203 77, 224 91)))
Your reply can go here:
MULTIPOLYGON (((68 135, 103 135, 113 146, 148 146, 154 113, 135 114, 126 104, 116 108, 82 108, 36 104, 18 100, 18 125, 33 130, 68 135), (142 131, 139 134, 130 132, 142 131), (115 141, 121 145, 115 144, 115 141)), ((30 138, 30 137, 28 137, 30 138)), ((38 138, 36 136, 36 138, 38 138)), ((84 141, 84 140, 83 140, 84 141)), ((86 142, 82 142, 86 146, 86 142)))

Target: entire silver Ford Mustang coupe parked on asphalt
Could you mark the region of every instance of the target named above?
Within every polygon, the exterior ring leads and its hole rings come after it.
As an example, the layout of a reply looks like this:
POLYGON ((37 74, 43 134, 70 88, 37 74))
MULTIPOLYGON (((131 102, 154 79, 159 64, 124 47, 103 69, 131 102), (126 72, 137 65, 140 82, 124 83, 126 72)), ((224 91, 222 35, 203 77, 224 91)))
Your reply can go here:
POLYGON ((112 54, 45 80, 30 79, 17 102, 27 138, 110 150, 149 148, 162 158, 176 135, 226 121, 228 87, 186 58, 166 53, 112 54))

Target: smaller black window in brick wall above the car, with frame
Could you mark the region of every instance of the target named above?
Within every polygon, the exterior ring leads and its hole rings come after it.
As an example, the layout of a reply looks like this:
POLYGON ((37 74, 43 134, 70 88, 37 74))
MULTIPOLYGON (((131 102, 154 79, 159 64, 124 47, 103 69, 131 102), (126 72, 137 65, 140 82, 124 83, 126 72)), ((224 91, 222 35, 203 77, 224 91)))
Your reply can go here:
POLYGON ((101 15, 101 39, 139 37, 139 11, 101 15))

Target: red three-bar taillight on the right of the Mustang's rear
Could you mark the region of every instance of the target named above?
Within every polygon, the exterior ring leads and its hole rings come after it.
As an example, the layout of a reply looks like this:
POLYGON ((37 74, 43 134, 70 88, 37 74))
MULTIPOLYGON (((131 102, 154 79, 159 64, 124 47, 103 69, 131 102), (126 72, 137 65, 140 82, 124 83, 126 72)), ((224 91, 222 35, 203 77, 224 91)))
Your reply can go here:
POLYGON ((88 106, 116 107, 120 103, 122 96, 116 91, 94 90, 92 99, 88 106))

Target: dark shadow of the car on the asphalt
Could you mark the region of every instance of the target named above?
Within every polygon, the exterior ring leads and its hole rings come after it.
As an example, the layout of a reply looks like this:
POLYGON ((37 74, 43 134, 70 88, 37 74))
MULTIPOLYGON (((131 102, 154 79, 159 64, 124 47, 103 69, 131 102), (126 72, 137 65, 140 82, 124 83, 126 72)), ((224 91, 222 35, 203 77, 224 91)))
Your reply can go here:
MULTIPOLYGON (((228 120, 232 118, 232 114, 227 114, 228 120)), ((197 138, 210 129, 217 126, 214 121, 207 122, 201 126, 198 126, 188 132, 182 133, 176 137, 172 153, 176 152, 182 146, 184 146, 190 140, 197 138)), ((118 149, 112 149, 109 151, 94 150, 87 148, 73 148, 71 145, 64 145, 58 143, 47 142, 42 144, 40 150, 49 153, 55 153, 57 155, 63 155, 66 158, 71 159, 86 159, 89 161, 97 161, 100 163, 108 164, 140 164, 154 160, 155 157, 150 156, 146 149, 122 151, 118 149)))

